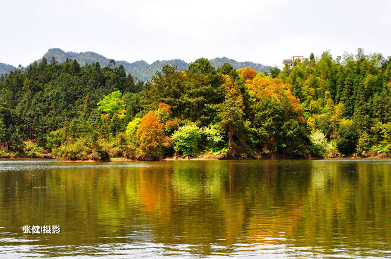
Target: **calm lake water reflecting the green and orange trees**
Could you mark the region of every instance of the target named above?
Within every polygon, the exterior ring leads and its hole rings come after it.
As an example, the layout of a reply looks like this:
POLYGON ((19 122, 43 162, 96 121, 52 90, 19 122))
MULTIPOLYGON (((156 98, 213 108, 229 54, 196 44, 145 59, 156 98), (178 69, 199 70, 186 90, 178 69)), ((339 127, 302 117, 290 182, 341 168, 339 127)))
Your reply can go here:
POLYGON ((71 256, 390 257, 391 160, 0 160, 0 258, 71 256))

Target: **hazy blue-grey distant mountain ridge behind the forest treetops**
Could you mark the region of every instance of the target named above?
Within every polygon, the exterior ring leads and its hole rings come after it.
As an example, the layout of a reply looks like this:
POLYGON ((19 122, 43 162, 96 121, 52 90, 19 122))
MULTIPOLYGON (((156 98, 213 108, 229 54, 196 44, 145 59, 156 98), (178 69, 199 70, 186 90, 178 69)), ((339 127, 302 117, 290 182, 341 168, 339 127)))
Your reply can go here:
MULTIPOLYGON (((79 62, 81 65, 85 65, 86 63, 90 64, 93 62, 99 62, 99 64, 102 67, 105 67, 109 64, 110 59, 97 54, 92 51, 87 52, 65 52, 62 49, 59 48, 51 48, 49 49, 44 55, 44 58, 46 58, 49 62, 54 57, 57 62, 64 62, 66 59, 72 59, 79 62)), ((41 61, 37 60, 38 62, 41 61)), ((211 64, 214 67, 219 67, 225 62, 230 63, 235 69, 245 68, 245 67, 251 67, 257 72, 269 72, 271 66, 265 66, 260 63, 254 63, 251 61, 244 61, 239 62, 236 60, 228 59, 226 57, 223 58, 216 58, 209 60, 211 64)), ((155 74, 156 70, 161 70, 163 66, 165 65, 176 65, 179 70, 184 70, 189 67, 189 63, 187 63, 184 60, 156 60, 152 64, 147 63, 144 60, 138 60, 135 62, 127 62, 124 60, 115 60, 116 65, 123 65, 124 69, 127 73, 131 74, 133 77, 136 77, 138 80, 147 81, 152 78, 152 76, 155 74)), ((11 68, 11 70, 4 70, 6 73, 9 73, 9 71, 14 70, 15 67, 11 68)), ((1 74, 1 70, 0 70, 1 74)))

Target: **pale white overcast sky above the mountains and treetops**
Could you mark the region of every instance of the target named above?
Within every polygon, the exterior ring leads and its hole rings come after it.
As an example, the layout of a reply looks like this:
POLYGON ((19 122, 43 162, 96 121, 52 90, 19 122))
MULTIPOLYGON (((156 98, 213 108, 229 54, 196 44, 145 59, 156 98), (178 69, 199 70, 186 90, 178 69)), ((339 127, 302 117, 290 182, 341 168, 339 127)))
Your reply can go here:
POLYGON ((278 65, 357 48, 391 56, 389 0, 12 0, 0 2, 0 62, 49 48, 114 60, 228 57, 278 65))

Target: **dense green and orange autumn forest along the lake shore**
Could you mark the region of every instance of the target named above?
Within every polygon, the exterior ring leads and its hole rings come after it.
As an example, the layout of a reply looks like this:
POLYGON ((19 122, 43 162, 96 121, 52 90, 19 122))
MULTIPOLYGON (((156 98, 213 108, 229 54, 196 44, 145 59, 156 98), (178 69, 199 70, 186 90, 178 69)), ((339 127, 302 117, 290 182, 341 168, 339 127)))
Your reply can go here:
POLYGON ((2 157, 391 155, 391 58, 311 53, 257 73, 198 59, 135 80, 114 60, 54 58, 0 78, 2 157))

